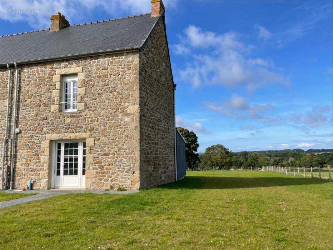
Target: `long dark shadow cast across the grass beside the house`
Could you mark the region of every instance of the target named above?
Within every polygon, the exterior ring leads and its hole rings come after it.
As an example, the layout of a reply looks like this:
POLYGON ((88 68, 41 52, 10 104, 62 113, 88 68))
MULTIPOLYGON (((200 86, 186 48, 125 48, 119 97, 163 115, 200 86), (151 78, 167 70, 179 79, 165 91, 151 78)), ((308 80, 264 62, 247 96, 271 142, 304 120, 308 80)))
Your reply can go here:
POLYGON ((166 189, 230 189, 324 184, 307 178, 186 176, 183 180, 159 186, 166 189))

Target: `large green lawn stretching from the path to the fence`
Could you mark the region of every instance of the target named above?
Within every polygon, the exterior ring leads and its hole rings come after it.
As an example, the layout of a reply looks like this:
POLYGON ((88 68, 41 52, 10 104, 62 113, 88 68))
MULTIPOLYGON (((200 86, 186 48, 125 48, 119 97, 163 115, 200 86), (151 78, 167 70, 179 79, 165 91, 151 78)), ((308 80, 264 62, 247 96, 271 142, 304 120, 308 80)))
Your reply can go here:
POLYGON ((187 172, 135 194, 70 194, 3 209, 0 248, 332 249, 332 204, 327 181, 187 172))

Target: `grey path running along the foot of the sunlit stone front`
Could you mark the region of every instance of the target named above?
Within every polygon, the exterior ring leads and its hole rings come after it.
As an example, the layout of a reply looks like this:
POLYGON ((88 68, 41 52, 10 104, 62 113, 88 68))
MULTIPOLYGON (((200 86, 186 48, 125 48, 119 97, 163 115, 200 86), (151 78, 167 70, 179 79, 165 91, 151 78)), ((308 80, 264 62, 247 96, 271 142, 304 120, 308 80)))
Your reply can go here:
POLYGON ((46 199, 52 196, 62 195, 62 194, 77 194, 77 193, 93 193, 93 194, 133 194, 138 192, 139 190, 130 190, 130 191, 116 191, 116 190, 93 190, 93 189, 49 189, 49 190, 31 190, 31 191, 22 191, 22 192, 15 192, 10 190, 1 191, 4 193, 23 193, 23 194, 30 194, 30 193, 37 193, 36 195, 31 195, 28 197, 22 197, 19 199, 9 200, 9 201, 2 201, 0 202, 0 209, 15 206, 18 204, 30 202, 30 201, 37 201, 41 199, 46 199))

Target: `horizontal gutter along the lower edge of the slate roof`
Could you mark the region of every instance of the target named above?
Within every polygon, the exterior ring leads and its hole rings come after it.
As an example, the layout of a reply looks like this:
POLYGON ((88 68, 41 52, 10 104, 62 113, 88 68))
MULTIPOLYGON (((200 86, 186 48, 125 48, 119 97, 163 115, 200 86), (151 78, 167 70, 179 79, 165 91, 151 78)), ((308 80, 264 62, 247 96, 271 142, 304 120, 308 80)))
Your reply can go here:
POLYGON ((4 66, 6 66, 6 64, 9 64, 9 65, 14 65, 15 63, 29 64, 29 63, 55 61, 55 60, 84 57, 84 56, 105 55, 105 54, 113 54, 113 53, 119 53, 119 52, 131 52, 131 51, 140 50, 140 48, 141 48, 140 46, 136 46, 136 47, 128 47, 128 48, 122 48, 122 49, 108 49, 108 50, 91 51, 91 52, 84 52, 84 53, 78 53, 78 54, 44 57, 44 58, 31 59, 31 60, 26 60, 26 61, 3 63, 3 64, 0 64, 0 67, 4 67, 4 66))

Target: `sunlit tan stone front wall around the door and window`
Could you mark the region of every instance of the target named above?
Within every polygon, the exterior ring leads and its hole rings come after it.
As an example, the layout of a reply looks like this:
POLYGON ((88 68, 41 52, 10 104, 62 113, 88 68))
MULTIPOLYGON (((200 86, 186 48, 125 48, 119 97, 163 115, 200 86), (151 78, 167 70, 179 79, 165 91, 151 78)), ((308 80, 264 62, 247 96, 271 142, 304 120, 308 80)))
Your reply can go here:
MULTIPOLYGON (((16 136, 13 187, 24 188, 32 178, 35 180, 35 189, 50 188, 51 142, 73 138, 87 142, 86 188, 106 189, 113 185, 114 188, 138 189, 139 52, 18 67, 20 87, 17 122, 22 132, 16 136), (59 87, 60 76, 66 72, 73 73, 73 68, 79 72, 78 102, 82 108, 78 112, 65 114, 59 112, 62 91, 59 87)), ((7 82, 8 70, 1 68, 0 163, 5 133, 7 82)), ((15 70, 12 70, 11 122, 14 86, 15 70)), ((9 138, 11 131, 12 126, 9 126, 9 138)), ((10 144, 9 139, 7 163, 10 144)))

